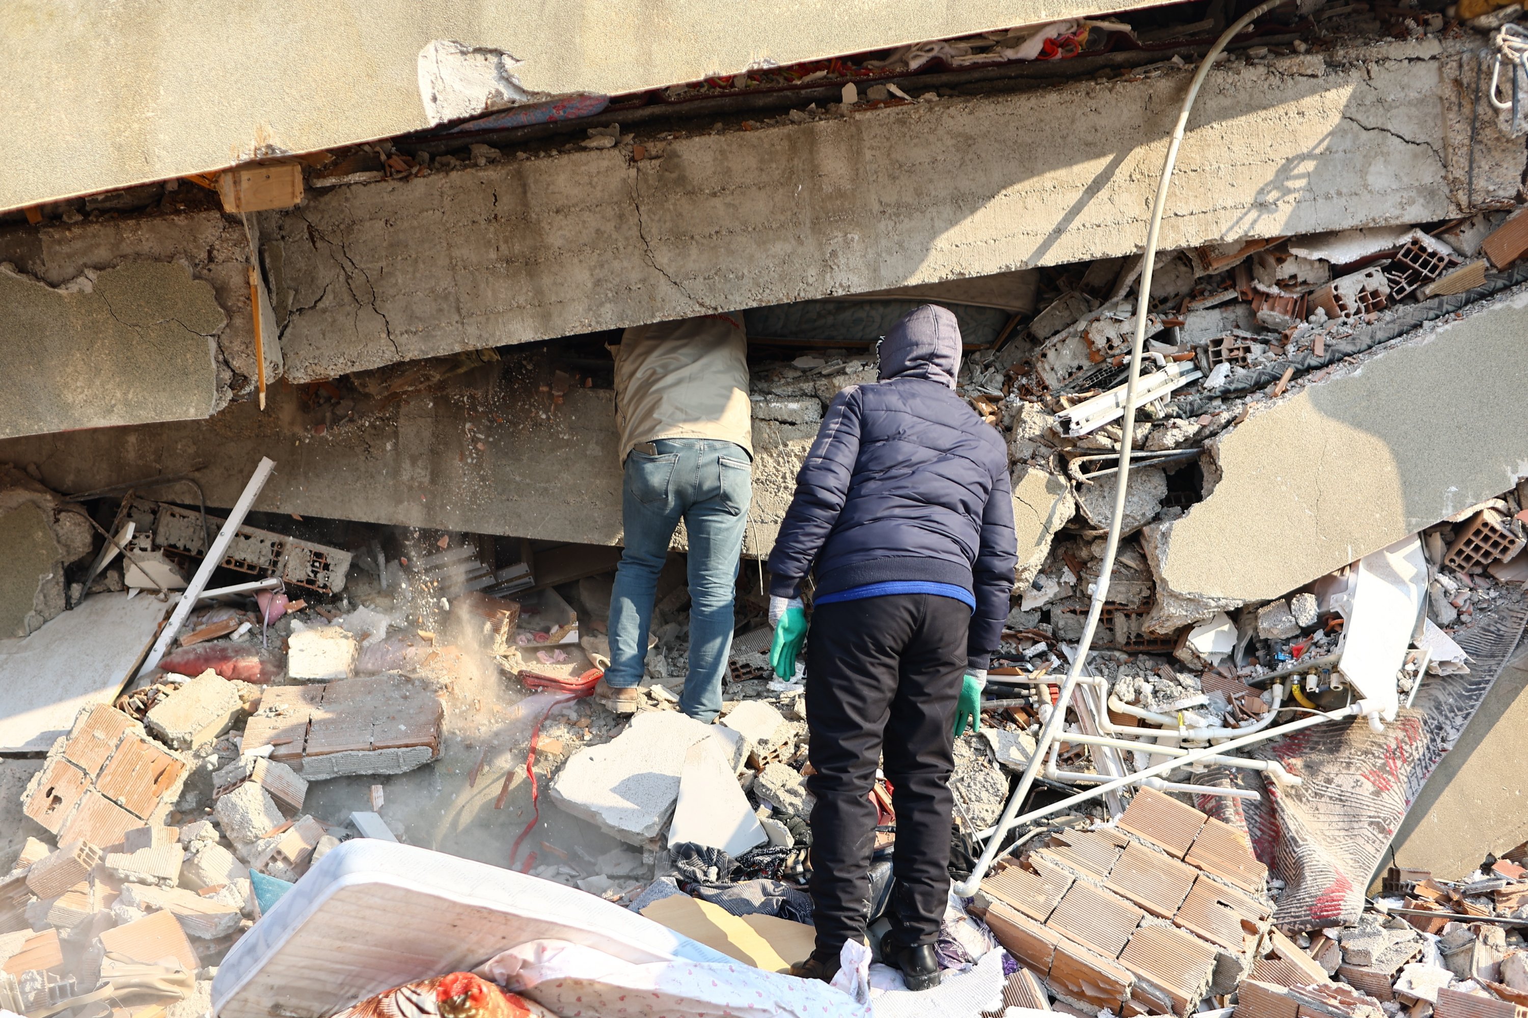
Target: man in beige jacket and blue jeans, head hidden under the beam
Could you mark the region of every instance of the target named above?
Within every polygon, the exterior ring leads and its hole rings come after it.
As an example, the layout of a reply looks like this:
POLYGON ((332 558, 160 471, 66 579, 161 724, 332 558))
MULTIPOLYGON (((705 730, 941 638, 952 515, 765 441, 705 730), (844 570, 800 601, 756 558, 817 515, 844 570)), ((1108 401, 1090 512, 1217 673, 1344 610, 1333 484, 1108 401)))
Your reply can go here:
POLYGON ((637 710, 659 571, 683 519, 689 673, 680 708, 709 722, 721 710, 732 595, 753 491, 743 316, 639 325, 611 350, 626 534, 610 598, 610 668, 594 697, 619 714, 637 710))

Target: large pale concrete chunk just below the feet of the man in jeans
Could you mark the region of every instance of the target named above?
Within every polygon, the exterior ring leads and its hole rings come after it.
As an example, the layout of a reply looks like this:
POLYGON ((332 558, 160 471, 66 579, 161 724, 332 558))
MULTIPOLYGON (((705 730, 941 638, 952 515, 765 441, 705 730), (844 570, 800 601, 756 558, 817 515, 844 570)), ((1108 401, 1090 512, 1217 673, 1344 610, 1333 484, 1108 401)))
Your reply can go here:
POLYGON ((717 739, 736 772, 743 736, 677 711, 645 711, 611 742, 575 752, 547 794, 564 810, 634 846, 651 846, 678 801, 689 748, 717 739))

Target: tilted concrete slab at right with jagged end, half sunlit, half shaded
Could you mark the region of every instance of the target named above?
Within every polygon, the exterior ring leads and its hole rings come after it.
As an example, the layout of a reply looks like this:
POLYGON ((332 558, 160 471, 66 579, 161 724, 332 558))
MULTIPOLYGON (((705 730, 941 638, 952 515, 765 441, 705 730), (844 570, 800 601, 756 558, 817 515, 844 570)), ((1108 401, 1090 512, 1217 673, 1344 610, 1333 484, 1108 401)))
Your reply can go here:
POLYGON ((1148 629, 1280 597, 1528 476, 1525 330, 1519 287, 1210 443, 1213 491, 1143 533, 1164 601, 1148 629))

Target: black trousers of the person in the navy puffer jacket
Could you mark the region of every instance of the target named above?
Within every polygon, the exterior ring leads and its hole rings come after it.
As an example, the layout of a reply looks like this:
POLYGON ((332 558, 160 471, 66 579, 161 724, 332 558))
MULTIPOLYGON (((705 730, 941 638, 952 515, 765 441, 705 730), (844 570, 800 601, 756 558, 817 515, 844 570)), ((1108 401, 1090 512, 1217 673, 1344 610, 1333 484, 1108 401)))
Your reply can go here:
POLYGON ((898 946, 934 943, 949 899, 955 704, 970 609, 932 594, 816 607, 807 633, 807 725, 816 774, 811 899, 819 960, 869 920, 876 768, 892 786, 897 844, 889 919, 898 946))

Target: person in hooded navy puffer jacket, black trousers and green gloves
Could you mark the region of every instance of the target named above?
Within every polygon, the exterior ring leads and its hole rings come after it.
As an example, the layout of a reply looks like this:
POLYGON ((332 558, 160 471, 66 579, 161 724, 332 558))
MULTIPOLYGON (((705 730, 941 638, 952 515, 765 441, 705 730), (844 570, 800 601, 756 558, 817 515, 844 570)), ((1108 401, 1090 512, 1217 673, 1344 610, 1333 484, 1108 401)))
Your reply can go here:
POLYGON ((949 310, 926 304, 897 322, 880 380, 833 398, 769 557, 782 678, 807 635, 817 943, 802 975, 831 978, 843 942, 865 937, 868 797, 885 755, 897 842, 882 951, 914 989, 938 983, 957 702, 975 722, 1018 557, 1002 435, 955 394, 958 371, 949 310))

